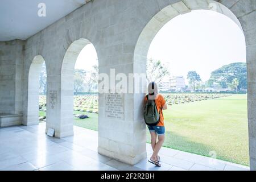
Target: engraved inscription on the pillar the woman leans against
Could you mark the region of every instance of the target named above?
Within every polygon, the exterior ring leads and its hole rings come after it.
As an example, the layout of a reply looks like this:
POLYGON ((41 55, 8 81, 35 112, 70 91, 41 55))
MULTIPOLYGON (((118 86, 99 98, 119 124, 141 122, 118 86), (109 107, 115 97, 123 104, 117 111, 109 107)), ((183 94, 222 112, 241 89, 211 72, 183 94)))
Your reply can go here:
POLYGON ((105 94, 105 117, 125 119, 124 95, 122 93, 105 94))

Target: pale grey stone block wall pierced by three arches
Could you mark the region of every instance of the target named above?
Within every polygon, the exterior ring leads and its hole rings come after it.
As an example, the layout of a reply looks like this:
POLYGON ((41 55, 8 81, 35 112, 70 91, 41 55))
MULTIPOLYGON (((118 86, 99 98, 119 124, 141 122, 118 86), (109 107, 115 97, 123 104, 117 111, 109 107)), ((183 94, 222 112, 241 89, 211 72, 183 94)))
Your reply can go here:
MULTIPOLYGON (((47 67, 47 128, 55 129, 56 137, 72 135, 72 111, 69 111, 71 110, 69 103, 72 100, 69 89, 71 85, 67 88, 68 85, 62 83, 64 78, 70 77, 68 74, 66 76, 63 74, 68 69, 67 65, 73 64, 74 55, 65 57, 73 42, 86 39, 94 45, 98 55, 100 73, 109 74, 111 68, 115 68, 116 73, 125 73, 126 75, 145 73, 148 47, 164 23, 176 15, 188 13, 191 10, 212 10, 212 6, 209 4, 213 2, 220 2, 224 5, 217 3, 214 11, 229 16, 245 33, 248 65, 250 163, 251 169, 256 169, 256 28, 254 25, 256 2, 254 0, 94 0, 86 3, 27 39, 23 51, 23 82, 20 85, 17 80, 8 76, 9 73, 21 74, 17 72, 20 70, 18 69, 21 67, 20 65, 13 68, 8 62, 9 60, 22 60, 22 53, 14 55, 13 51, 10 51, 15 47, 20 48, 20 43, 0 43, 0 100, 4 101, 0 104, 0 111, 5 109, 3 105, 6 104, 10 104, 10 107, 6 107, 10 108, 10 112, 19 111, 20 104, 16 104, 15 101, 20 101, 19 97, 22 96, 22 92, 18 92, 18 90, 22 86, 23 115, 25 114, 23 123, 27 122, 28 73, 34 57, 41 55, 46 61, 47 67), (6 44, 14 44, 14 46, 6 44), (71 62, 69 63, 69 61, 71 62), (10 71, 7 73, 6 69, 10 71), (5 79, 7 78, 10 82, 6 85, 5 79), (56 94, 53 100, 50 93, 56 94), (54 104, 51 105, 50 102, 54 104)), ((75 52, 78 50, 79 47, 75 48, 75 52)), ((11 64, 18 65, 12 61, 11 64)), ((18 63, 22 63, 22 61, 18 61, 18 63)), ((70 68, 67 72, 72 72, 72 69, 70 68)), ((125 118, 108 119, 105 117, 104 94, 99 96, 98 151, 123 162, 135 164, 146 157, 146 126, 142 118, 144 94, 125 94, 124 97, 125 118)))

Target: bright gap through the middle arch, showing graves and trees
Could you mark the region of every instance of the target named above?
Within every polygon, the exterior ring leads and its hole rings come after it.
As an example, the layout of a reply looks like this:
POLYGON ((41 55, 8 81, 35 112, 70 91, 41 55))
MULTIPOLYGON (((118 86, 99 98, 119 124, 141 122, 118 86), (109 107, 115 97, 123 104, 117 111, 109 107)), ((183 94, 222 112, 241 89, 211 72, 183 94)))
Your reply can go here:
POLYGON ((74 73, 75 126, 98 131, 98 58, 93 44, 85 46, 74 73))

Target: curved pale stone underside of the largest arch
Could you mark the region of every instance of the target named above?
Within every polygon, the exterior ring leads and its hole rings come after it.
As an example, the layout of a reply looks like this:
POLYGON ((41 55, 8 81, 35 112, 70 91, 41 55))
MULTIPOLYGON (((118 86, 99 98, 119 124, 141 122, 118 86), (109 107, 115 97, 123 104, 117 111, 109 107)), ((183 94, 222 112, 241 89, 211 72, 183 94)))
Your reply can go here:
POLYGON ((210 10, 224 14, 232 19, 242 30, 242 26, 236 16, 221 3, 217 3, 215 1, 208 2, 206 0, 199 0, 196 2, 197 3, 194 3, 193 1, 180 1, 164 7, 159 11, 159 13, 154 15, 150 22, 148 22, 144 27, 138 38, 134 51, 134 63, 142 64, 143 67, 145 67, 148 48, 158 31, 164 26, 164 24, 169 22, 172 18, 175 18, 175 16, 189 13, 192 10, 210 10))

